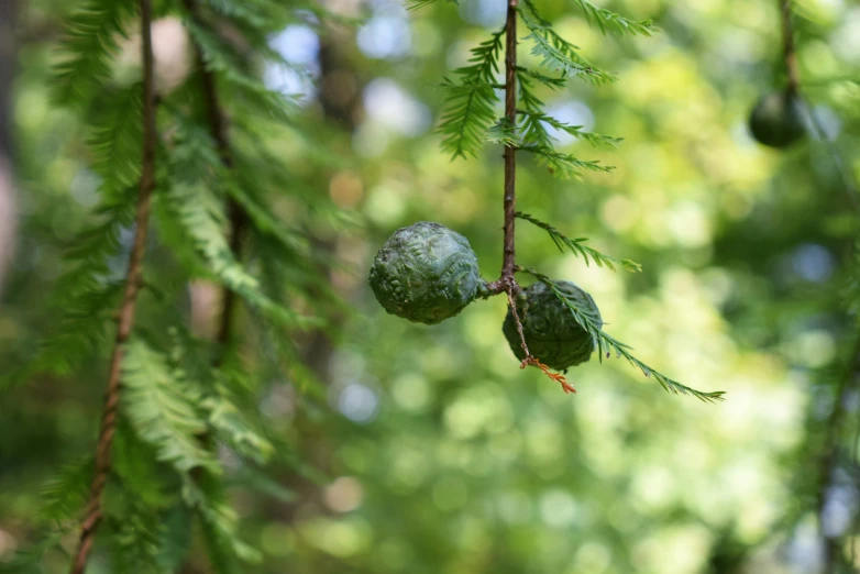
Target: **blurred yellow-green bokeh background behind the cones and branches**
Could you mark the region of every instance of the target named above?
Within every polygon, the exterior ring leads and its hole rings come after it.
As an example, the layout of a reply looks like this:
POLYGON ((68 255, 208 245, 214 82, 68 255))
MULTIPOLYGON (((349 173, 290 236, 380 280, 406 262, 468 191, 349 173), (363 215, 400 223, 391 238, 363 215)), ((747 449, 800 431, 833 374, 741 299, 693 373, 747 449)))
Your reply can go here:
MULTIPOLYGON (((19 7, 18 235, 0 303, 0 369, 51 329, 46 289, 93 201, 80 118, 48 97, 52 46, 74 4, 19 7)), ((505 2, 414 12, 396 0, 326 5, 359 23, 290 24, 271 44, 307 75, 286 65, 260 71, 271 87, 305 95, 317 142, 271 143, 328 205, 305 223, 331 255, 326 273, 346 305, 327 331, 300 341, 326 383, 321 400, 306 400, 301 384, 277 374, 261 387, 269 431, 285 437, 279 448, 301 472, 276 471, 289 496, 231 490, 243 538, 264 556, 245 571, 860 569, 858 335, 844 301, 858 198, 824 142, 776 152, 748 133, 758 97, 784 81, 776 2, 605 2, 653 19, 652 38, 603 35, 576 2, 539 2, 563 36, 618 77, 542 92, 550 113, 625 141, 593 150, 560 134, 565 148, 615 172, 560 181, 525 157, 518 207, 643 273, 587 267, 523 222, 518 263, 575 280, 597 300, 608 332, 682 383, 725 390, 717 405, 666 395, 615 358, 572 369, 580 393, 565 396, 536 369, 518 368, 501 334, 504 298, 432 328, 385 314, 366 271, 383 241, 415 221, 463 233, 484 277, 498 273, 501 147, 451 162, 432 128, 443 76, 501 25, 505 2), (828 548, 845 563, 826 566, 828 548)), ((804 93, 857 174, 860 7, 798 0, 795 12, 804 93)), ((172 22, 161 20, 156 32, 165 90, 190 59, 172 22)), ((520 57, 533 59, 526 46, 520 57)), ((296 212, 289 194, 278 207, 296 212)), ((172 280, 169 257, 155 251, 148 261, 172 280)), ((0 563, 36 541, 40 484, 91 451, 103 363, 3 391, 0 563)), ((48 572, 64 563, 45 560, 48 572)), ((95 563, 92 572, 107 571, 95 563)))

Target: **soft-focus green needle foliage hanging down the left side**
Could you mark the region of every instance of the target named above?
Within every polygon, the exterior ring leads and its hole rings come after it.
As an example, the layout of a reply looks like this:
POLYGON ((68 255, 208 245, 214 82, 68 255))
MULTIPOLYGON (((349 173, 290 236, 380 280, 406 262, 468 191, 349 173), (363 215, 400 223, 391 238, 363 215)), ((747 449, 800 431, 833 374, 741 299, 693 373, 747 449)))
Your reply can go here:
MULTIPOLYGON (((260 554, 238 537, 239 518, 230 507, 227 485, 241 484, 278 500, 291 498, 260 466, 273 457, 293 456, 284 444, 276 451, 255 413, 264 371, 256 360, 246 366, 228 356, 229 349, 195 340, 177 323, 184 316, 175 313, 183 306, 177 300, 181 288, 173 284, 203 277, 235 292, 260 320, 257 329, 278 342, 278 352, 289 351, 282 354, 295 362, 291 373, 301 372, 301 357, 290 340, 293 330, 319 324, 307 311, 295 310, 300 298, 317 297, 315 310, 324 310, 323 303, 332 305, 334 299, 330 288, 318 285, 326 267, 312 258, 307 234, 278 219, 272 197, 298 198, 306 209, 323 214, 331 207, 321 206, 316 188, 285 176, 283 159, 260 137, 260 125, 273 119, 306 140, 310 139, 302 130, 309 133, 311 124, 296 122, 301 110, 293 98, 268 90, 256 73, 260 57, 286 64, 268 46, 273 31, 313 18, 313 25, 323 26, 321 19, 328 13, 311 4, 271 0, 207 3, 202 15, 194 18, 179 2, 159 10, 185 14, 184 24, 205 69, 214 74, 216 96, 225 106, 221 113, 235 122, 235 142, 228 144, 234 145, 233 162, 225 163, 223 150, 216 145, 206 109, 209 95, 202 93, 205 84, 192 70, 176 91, 159 95, 153 210, 157 231, 150 243, 156 254, 169 251, 179 269, 177 277, 165 273, 169 265, 145 266, 144 292, 155 292, 154 285, 159 285, 159 297, 137 301, 145 307, 137 311, 139 322, 147 323, 150 334, 135 333, 123 350, 119 423, 100 527, 106 532, 97 540, 97 547, 107 547, 117 572, 180 570, 194 548, 192 519, 199 522, 212 567, 243 572, 240 562, 257 561, 260 554), (218 26, 206 21, 212 16, 219 19, 218 26), (212 31, 222 24, 235 26, 254 51, 253 60, 212 31), (227 240, 228 201, 243 211, 246 262, 240 262, 227 240), (264 273, 264 278, 255 277, 251 266, 264 273), (242 459, 241 472, 225 472, 216 454, 218 446, 242 459)), ((87 3, 71 16, 68 37, 60 46, 56 97, 76 107, 90 124, 85 143, 90 169, 101 179, 99 206, 92 213, 95 222, 64 254, 64 273, 56 280, 51 303, 55 313, 52 333, 26 365, 11 377, 4 373, 5 378, 26 380, 38 373, 70 376, 87 361, 101 360, 109 347, 124 289, 123 255, 126 233, 134 229, 141 177, 142 86, 109 82, 111 59, 133 7, 134 2, 113 0, 87 3)), ((317 154, 313 162, 321 157, 317 154)), ((311 472, 305 463, 299 466, 311 472)), ((54 532, 78 528, 91 474, 92 461, 87 457, 47 483, 40 516, 51 547, 36 547, 32 555, 20 552, 12 562, 0 560, 4 566, 13 572, 41 572, 44 552, 56 544, 54 532)))

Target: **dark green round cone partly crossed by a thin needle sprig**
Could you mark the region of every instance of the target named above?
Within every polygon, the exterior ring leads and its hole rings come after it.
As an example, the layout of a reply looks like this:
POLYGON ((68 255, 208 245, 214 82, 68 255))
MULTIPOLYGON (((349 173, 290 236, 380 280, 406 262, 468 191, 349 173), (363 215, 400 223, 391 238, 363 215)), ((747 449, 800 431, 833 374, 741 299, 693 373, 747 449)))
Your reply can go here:
MULTIPOLYGON (((603 327, 600 311, 591 295, 570 282, 555 282, 555 286, 577 309, 589 316, 597 327, 603 327)), ((591 358, 594 351, 592 335, 576 322, 567 306, 543 283, 532 284, 519 294, 517 314, 522 322, 522 333, 526 335, 529 352, 544 365, 561 371, 591 358)), ((517 358, 526 358, 510 309, 501 331, 517 358)))

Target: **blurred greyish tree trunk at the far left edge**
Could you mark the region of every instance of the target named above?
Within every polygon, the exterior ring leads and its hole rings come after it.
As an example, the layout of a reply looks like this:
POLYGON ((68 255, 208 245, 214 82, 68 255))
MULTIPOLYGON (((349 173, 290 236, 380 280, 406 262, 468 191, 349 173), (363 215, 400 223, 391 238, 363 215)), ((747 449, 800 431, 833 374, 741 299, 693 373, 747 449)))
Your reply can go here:
POLYGON ((12 261, 15 235, 15 191, 12 186, 12 78, 15 69, 15 0, 0 1, 0 294, 12 261))

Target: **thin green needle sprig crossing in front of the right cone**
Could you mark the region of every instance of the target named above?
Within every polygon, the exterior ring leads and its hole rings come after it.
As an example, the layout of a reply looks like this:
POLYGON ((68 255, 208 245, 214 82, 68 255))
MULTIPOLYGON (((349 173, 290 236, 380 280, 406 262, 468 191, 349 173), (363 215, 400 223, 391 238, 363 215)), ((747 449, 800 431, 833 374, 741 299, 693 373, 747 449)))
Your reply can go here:
POLYGON ((650 366, 646 365, 630 353, 632 347, 621 343, 617 339, 614 339, 604 332, 600 325, 594 321, 589 310, 581 309, 576 301, 570 297, 566 297, 564 292, 555 286, 555 283, 548 276, 538 273, 530 267, 520 267, 519 271, 531 275, 536 279, 547 285, 547 287, 549 287, 552 292, 555 294, 555 296, 567 307, 567 309, 570 309, 571 314, 574 319, 576 319, 576 322, 580 323, 582 328, 588 331, 588 333, 591 333, 594 338, 594 343, 597 346, 597 353, 600 361, 603 361, 604 354, 606 355, 606 358, 608 358, 611 353, 615 353, 617 358, 626 358, 631 365, 640 369, 644 376, 653 376, 654 379, 660 383, 660 386, 662 386, 669 393, 674 395, 691 395, 704 402, 715 402, 723 400, 723 395, 725 395, 725 393, 721 390, 703 393, 701 390, 687 387, 686 385, 682 385, 681 383, 673 380, 662 373, 659 373, 658 371, 654 371, 650 366))

